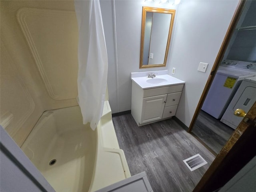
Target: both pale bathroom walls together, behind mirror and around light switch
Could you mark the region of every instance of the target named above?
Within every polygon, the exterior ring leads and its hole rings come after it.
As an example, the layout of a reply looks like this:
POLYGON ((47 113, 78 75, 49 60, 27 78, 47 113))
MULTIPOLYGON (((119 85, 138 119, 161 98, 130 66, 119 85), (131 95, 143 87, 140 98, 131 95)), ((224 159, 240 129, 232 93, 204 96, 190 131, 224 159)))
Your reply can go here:
POLYGON ((175 67, 173 76, 186 81, 176 116, 189 126, 238 0, 182 0, 178 7, 142 0, 100 3, 104 5, 101 8, 109 56, 108 90, 112 113, 131 109, 131 72, 171 71, 175 67), (115 8, 111 8, 113 5, 115 8), (139 69, 142 6, 176 9, 166 67, 139 69), (116 17, 116 42, 112 10, 116 17), (117 60, 110 62, 115 56, 117 60), (209 64, 206 73, 197 71, 199 62, 209 64))

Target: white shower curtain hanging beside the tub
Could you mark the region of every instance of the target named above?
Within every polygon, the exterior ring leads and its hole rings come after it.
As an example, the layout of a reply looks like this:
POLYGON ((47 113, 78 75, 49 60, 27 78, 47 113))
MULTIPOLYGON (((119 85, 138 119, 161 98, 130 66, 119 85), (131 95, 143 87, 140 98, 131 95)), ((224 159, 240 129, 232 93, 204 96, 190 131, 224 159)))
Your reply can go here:
POLYGON ((99 0, 75 0, 79 29, 78 104, 84 124, 92 130, 102 116, 108 73, 108 56, 99 0))

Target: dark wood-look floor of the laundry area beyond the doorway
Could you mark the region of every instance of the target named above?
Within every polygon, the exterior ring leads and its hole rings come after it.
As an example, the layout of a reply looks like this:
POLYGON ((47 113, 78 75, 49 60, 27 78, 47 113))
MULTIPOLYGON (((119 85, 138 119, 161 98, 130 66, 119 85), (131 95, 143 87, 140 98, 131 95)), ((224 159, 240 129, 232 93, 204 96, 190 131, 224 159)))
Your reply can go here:
POLYGON ((192 133, 216 154, 220 152, 233 132, 234 129, 202 110, 192 130, 192 133))

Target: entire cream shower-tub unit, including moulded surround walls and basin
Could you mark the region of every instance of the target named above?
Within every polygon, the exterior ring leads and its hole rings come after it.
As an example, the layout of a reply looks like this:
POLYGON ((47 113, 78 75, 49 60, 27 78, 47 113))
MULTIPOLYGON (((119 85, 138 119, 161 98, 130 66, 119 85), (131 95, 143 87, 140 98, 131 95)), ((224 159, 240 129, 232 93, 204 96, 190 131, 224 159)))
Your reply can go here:
POLYGON ((83 124, 74 1, 1 1, 1 37, 0 123, 52 187, 95 191, 130 177, 107 92, 96 130, 83 124))

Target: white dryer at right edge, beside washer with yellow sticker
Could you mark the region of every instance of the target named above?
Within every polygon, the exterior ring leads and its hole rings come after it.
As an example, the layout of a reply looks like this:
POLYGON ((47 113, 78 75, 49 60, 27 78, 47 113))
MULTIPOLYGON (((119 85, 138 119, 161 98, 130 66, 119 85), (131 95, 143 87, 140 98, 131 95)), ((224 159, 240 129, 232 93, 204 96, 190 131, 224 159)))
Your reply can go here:
POLYGON ((245 78, 220 121, 231 128, 236 129, 242 118, 235 116, 234 111, 237 109, 242 109, 247 113, 255 102, 256 77, 245 78))

